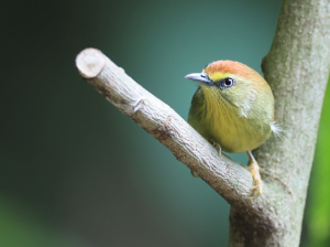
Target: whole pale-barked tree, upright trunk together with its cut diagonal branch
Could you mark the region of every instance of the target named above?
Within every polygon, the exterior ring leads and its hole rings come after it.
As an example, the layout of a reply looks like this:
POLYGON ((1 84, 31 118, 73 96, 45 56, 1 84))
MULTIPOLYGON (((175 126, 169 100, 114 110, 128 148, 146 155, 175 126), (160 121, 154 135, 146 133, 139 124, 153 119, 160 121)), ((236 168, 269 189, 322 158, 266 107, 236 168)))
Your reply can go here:
POLYGON ((264 184, 250 200, 251 174, 197 133, 100 51, 76 58, 80 75, 124 115, 166 146, 231 204, 229 246, 299 245, 309 173, 330 67, 330 3, 284 0, 263 72, 284 138, 254 150, 264 184))

